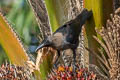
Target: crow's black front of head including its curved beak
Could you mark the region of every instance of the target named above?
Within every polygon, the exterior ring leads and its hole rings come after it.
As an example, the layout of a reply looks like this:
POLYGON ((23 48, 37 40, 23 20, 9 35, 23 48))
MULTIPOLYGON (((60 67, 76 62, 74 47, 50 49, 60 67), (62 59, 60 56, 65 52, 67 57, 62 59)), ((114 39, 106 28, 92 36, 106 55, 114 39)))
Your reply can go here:
POLYGON ((51 44, 52 44, 52 42, 51 42, 50 37, 47 37, 40 43, 40 45, 36 48, 35 51, 37 52, 39 49, 41 49, 43 47, 49 47, 49 46, 51 46, 51 44))

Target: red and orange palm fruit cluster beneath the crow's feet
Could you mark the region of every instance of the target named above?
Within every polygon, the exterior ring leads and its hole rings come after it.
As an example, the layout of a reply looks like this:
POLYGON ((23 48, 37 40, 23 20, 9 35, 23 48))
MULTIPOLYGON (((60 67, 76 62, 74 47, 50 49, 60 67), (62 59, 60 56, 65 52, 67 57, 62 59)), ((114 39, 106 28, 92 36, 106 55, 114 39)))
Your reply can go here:
POLYGON ((53 69, 48 75, 47 80, 98 80, 96 74, 88 71, 88 68, 81 68, 79 65, 76 71, 73 71, 72 66, 60 65, 57 69, 53 69))

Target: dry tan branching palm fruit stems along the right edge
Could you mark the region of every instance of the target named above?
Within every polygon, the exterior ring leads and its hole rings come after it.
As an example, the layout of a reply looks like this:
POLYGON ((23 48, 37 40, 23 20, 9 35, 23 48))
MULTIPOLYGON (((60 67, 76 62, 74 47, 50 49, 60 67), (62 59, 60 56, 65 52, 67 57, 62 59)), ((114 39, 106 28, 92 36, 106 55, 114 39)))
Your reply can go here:
POLYGON ((99 58, 99 63, 110 80, 116 80, 120 78, 120 8, 111 14, 111 19, 107 20, 106 27, 102 27, 100 31, 96 30, 96 32, 104 42, 93 37, 105 50, 105 53, 99 49, 102 57, 98 54, 95 55, 99 58))

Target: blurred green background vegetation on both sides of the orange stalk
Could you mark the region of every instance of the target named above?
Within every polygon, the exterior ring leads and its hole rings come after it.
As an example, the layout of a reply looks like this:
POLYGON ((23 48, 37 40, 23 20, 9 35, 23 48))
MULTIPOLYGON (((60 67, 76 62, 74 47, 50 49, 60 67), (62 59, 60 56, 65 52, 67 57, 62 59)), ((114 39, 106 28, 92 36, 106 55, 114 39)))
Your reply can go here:
MULTIPOLYGON (((39 32, 35 16, 26 0, 0 0, 0 11, 6 16, 8 22, 19 35, 25 49, 29 50, 32 39, 39 32)), ((0 46, 0 64, 8 59, 2 46, 0 46)))

